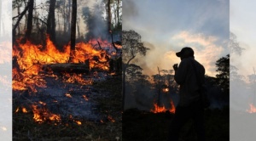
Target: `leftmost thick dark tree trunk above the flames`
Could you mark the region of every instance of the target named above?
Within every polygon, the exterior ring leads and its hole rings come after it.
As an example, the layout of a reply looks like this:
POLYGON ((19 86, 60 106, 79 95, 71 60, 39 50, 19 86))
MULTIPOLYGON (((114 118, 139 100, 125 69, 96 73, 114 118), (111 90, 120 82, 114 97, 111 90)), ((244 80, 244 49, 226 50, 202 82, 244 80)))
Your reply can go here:
POLYGON ((26 20, 26 40, 31 40, 31 33, 32 33, 32 20, 33 20, 33 9, 34 9, 34 0, 30 0, 27 4, 28 6, 28 15, 26 20))

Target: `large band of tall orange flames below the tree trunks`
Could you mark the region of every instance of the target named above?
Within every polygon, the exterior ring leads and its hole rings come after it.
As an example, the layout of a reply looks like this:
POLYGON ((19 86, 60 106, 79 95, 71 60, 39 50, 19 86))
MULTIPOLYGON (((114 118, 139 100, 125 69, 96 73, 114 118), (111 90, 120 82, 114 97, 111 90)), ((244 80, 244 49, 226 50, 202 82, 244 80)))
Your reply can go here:
MULTIPOLYGON (((64 46, 62 51, 58 50, 53 42, 46 39, 45 47, 35 45, 27 41, 25 44, 19 43, 13 48, 13 88, 14 90, 31 90, 36 93, 35 87, 45 87, 46 82, 39 74, 44 71, 44 65, 64 64, 64 63, 84 63, 90 69, 97 68, 108 71, 109 59, 114 50, 112 44, 102 39, 90 40, 90 42, 79 42, 76 44, 73 62, 69 62, 70 45, 64 46)), ((49 71, 52 73, 52 71, 49 71)), ((91 84, 91 80, 84 79, 81 75, 65 74, 66 82, 79 82, 83 85, 91 84), (69 75, 69 76, 68 76, 69 75)), ((44 75, 45 76, 45 75, 44 75)), ((50 76, 57 77, 54 74, 50 76)), ((56 78, 57 79, 57 78, 56 78)))

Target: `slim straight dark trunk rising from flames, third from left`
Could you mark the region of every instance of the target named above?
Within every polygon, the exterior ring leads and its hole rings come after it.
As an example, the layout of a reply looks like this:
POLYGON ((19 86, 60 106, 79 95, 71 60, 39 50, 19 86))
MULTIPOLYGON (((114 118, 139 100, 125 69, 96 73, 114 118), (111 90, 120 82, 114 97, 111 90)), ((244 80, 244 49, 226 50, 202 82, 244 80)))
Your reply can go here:
POLYGON ((72 20, 71 20, 71 36, 70 36, 70 58, 73 61, 76 45, 76 21, 77 21, 77 0, 72 1, 72 20))

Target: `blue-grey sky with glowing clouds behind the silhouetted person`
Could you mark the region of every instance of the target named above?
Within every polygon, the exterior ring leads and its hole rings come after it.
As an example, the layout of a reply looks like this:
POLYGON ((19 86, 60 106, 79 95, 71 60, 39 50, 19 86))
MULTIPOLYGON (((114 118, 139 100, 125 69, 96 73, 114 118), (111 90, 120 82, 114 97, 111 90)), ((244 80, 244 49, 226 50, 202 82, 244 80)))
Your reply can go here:
POLYGON ((137 31, 147 55, 137 61, 149 76, 172 70, 183 47, 195 51, 195 59, 216 75, 216 61, 229 54, 229 0, 129 0, 123 2, 123 30, 137 31))

